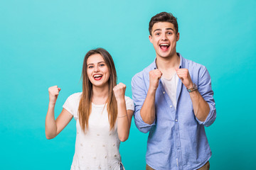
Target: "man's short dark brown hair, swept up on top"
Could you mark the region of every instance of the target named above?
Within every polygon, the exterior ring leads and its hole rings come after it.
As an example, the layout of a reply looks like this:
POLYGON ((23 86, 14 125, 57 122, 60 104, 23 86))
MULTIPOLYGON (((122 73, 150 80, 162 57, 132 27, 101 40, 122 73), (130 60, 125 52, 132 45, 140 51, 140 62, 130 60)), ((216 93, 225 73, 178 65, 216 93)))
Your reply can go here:
POLYGON ((174 24, 176 33, 178 33, 177 18, 175 16, 173 16, 172 13, 161 12, 161 13, 157 13, 155 16, 153 16, 149 22, 149 34, 150 35, 152 35, 151 31, 152 31, 154 24, 159 23, 159 22, 169 22, 169 23, 174 24))

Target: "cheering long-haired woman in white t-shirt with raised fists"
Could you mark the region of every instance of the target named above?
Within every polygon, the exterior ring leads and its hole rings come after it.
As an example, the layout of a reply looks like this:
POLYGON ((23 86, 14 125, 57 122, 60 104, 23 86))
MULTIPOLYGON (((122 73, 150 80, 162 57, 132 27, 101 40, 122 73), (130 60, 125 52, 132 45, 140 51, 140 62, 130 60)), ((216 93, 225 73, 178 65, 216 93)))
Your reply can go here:
POLYGON ((57 136, 72 118, 77 120, 75 155, 71 170, 123 169, 120 141, 129 137, 134 112, 131 98, 124 96, 126 86, 117 84, 117 73, 109 52, 90 50, 82 66, 82 92, 72 94, 63 111, 54 118, 60 88, 51 86, 46 115, 46 138, 57 136))

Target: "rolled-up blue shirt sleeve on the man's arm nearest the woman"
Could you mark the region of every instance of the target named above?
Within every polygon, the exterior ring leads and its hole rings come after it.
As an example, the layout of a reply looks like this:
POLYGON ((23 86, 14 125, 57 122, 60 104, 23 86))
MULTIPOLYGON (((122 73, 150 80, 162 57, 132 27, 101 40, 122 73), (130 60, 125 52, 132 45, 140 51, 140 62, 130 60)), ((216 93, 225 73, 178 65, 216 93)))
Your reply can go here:
POLYGON ((152 126, 156 125, 156 120, 151 125, 144 123, 140 114, 143 103, 146 99, 146 86, 142 77, 142 73, 136 74, 132 77, 132 99, 135 103, 134 120, 135 125, 141 132, 149 132, 152 126))

